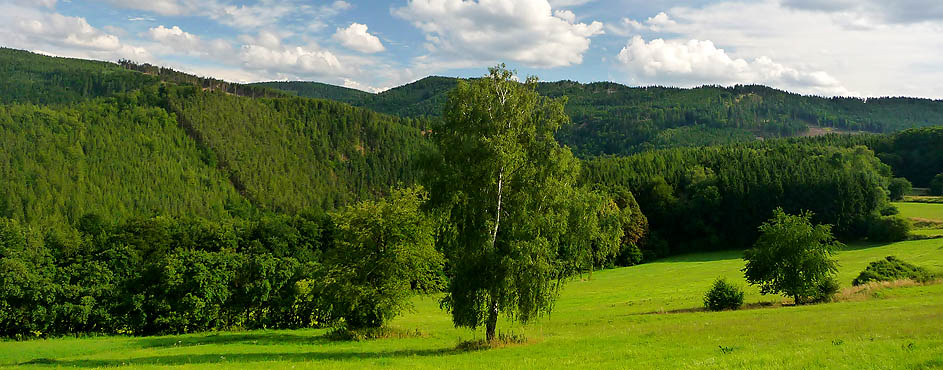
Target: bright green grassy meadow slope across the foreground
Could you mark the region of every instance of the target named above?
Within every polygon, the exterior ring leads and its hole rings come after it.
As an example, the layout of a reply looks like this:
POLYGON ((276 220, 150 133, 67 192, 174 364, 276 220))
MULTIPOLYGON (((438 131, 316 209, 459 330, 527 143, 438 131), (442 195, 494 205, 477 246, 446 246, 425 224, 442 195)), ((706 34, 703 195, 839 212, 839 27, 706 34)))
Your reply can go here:
MULTIPOLYGON (((256 331, 150 338, 0 342, 0 366, 135 365, 184 368, 898 368, 943 366, 943 285, 895 288, 880 299, 736 312, 646 312, 694 308, 711 281, 744 284, 737 252, 680 256, 600 271, 570 282, 554 313, 528 327, 499 331, 533 342, 459 352, 480 332, 452 328, 431 297, 393 326, 421 338, 330 342, 324 330, 256 331), (733 348, 724 354, 719 346, 733 348), (45 359, 45 360, 43 360, 45 359), (37 361, 38 360, 38 361, 37 361)), ((856 245, 838 255, 850 285, 868 262, 886 255, 943 271, 943 240, 856 245)), ((779 301, 748 287, 748 303, 779 301)))

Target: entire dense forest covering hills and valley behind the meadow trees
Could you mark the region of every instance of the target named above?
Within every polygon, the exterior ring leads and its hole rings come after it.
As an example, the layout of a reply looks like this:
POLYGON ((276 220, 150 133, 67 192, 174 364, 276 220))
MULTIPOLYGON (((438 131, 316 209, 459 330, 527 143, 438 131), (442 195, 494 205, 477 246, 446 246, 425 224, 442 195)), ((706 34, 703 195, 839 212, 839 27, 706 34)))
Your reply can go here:
MULTIPOLYGON (((428 136, 447 128, 455 84, 249 86, 0 49, 0 335, 336 322, 341 298, 325 303, 331 286, 316 282, 362 237, 337 230, 435 176, 428 136)), ((939 101, 535 89, 567 98, 573 123, 556 139, 580 158, 573 199, 624 216, 594 268, 747 248, 777 207, 877 240, 896 222, 892 179, 925 187, 943 173, 943 128, 912 128, 943 123, 939 101), (775 138, 808 125, 876 133, 775 138)), ((574 219, 601 217, 583 211, 574 219)))

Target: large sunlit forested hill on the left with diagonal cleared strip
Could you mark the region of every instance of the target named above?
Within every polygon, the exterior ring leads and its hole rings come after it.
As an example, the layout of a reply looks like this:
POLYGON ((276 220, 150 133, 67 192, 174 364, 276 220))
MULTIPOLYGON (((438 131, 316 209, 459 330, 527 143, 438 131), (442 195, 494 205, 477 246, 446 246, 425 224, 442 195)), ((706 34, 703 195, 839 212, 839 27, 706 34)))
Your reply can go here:
POLYGON ((423 125, 148 65, 0 49, 0 217, 332 210, 414 182, 423 125))

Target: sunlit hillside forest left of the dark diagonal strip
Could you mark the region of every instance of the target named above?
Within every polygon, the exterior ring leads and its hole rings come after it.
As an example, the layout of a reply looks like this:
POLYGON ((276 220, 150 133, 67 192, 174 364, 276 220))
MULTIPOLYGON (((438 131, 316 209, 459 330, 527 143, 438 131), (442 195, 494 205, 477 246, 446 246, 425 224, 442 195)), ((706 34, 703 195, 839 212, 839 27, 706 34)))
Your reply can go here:
POLYGON ((173 116, 146 94, 52 109, 0 106, 0 216, 30 225, 153 213, 224 218, 238 203, 173 116), (168 194, 173 194, 169 196, 168 194))

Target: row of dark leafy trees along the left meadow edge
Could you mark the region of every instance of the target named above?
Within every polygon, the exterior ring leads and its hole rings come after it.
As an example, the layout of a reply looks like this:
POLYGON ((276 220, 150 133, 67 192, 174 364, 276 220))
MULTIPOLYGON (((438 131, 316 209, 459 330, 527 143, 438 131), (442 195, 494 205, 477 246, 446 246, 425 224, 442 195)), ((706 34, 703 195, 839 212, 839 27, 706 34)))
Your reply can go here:
POLYGON ((94 214, 48 230, 0 218, 0 335, 152 335, 328 320, 314 278, 324 215, 254 220, 94 214))

